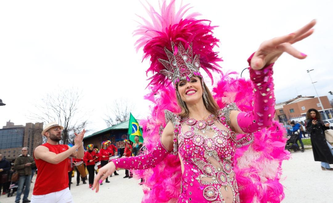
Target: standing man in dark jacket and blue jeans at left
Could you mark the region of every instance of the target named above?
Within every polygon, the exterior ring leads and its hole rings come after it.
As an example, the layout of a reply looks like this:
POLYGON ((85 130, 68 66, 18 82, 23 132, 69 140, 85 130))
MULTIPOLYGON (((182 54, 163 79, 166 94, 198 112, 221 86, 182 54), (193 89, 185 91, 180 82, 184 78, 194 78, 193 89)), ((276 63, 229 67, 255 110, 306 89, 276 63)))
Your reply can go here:
POLYGON ((19 203, 21 199, 21 193, 23 186, 25 186, 24 189, 24 195, 23 195, 23 203, 30 202, 28 200, 29 192, 30 192, 30 181, 31 181, 31 167, 34 167, 35 161, 32 156, 28 154, 28 148, 24 147, 22 148, 21 155, 19 155, 14 162, 14 169, 16 172, 20 174, 19 184, 17 188, 17 194, 15 202, 19 203))

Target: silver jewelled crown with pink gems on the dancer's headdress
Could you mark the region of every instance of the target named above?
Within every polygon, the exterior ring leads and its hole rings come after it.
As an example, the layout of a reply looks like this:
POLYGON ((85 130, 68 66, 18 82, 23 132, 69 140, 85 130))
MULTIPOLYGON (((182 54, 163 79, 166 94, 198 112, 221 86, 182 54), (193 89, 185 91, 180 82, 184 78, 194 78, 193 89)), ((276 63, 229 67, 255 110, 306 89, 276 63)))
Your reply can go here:
POLYGON ((159 58, 159 62, 164 65, 166 69, 160 71, 163 75, 171 80, 176 86, 180 80, 190 81, 192 76, 202 75, 199 71, 200 69, 200 55, 196 54, 193 58, 192 53, 192 43, 189 44, 187 51, 185 51, 181 42, 175 44, 171 42, 172 52, 167 50, 166 47, 164 51, 168 57, 168 61, 159 58))

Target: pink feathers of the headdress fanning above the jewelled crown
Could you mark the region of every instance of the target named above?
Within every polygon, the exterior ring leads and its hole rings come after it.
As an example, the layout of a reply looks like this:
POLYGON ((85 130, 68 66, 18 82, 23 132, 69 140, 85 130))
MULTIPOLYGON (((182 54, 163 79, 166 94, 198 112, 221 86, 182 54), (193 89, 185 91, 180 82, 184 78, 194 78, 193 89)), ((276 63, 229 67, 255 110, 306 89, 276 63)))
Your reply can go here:
POLYGON ((208 74, 213 84, 210 71, 220 72, 220 66, 217 62, 223 61, 218 57, 218 52, 213 51, 219 42, 212 32, 216 26, 211 26, 208 20, 195 19, 200 15, 198 13, 188 14, 184 18, 185 13, 190 9, 188 4, 182 6, 178 12, 175 12, 174 4, 175 0, 172 0, 168 5, 166 1, 163 1, 161 12, 155 11, 149 5, 146 10, 151 21, 141 17, 143 23, 134 31, 134 36, 141 36, 135 43, 136 50, 143 47, 143 59, 150 58, 151 61, 151 65, 146 71, 147 74, 148 72, 153 74, 149 78, 151 81, 148 86, 169 84, 166 76, 160 73, 165 67, 158 59, 168 59, 164 48, 172 50, 171 42, 181 42, 185 50, 192 43, 193 55, 200 54, 201 68, 208 74))

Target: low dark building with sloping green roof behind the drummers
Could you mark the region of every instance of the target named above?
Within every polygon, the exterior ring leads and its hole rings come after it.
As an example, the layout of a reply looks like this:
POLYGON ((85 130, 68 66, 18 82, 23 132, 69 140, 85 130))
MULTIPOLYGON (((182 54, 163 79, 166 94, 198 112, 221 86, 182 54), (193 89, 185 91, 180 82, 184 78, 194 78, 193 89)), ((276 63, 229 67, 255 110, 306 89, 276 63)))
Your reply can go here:
POLYGON ((101 149, 102 142, 110 140, 118 149, 124 147, 123 140, 128 139, 129 121, 111 126, 83 138, 84 146, 93 144, 94 148, 101 149))

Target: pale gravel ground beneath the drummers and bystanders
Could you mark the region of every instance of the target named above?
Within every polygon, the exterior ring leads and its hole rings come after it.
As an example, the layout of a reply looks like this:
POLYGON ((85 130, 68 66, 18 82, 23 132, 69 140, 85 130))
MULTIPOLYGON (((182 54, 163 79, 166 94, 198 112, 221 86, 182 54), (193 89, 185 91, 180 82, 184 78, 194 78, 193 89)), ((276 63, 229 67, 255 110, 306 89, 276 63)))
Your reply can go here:
MULTIPOLYGON (((320 162, 313 160, 311 149, 304 153, 292 152, 292 159, 284 161, 282 167, 283 180, 281 183, 285 186, 286 195, 283 202, 325 203, 333 201, 333 171, 321 170, 320 162)), ((142 186, 139 185, 140 180, 123 178, 125 170, 120 170, 119 174, 109 177, 111 183, 104 182, 98 193, 91 191, 89 185, 82 184, 82 181, 79 186, 76 186, 76 178, 73 178, 71 193, 74 202, 87 202, 87 200, 91 200, 89 202, 93 203, 109 202, 106 200, 111 200, 110 198, 112 198, 112 202, 141 202, 143 192, 142 186)), ((31 183, 29 199, 33 187, 34 183, 31 183)), ((1 195, 0 203, 15 202, 15 195, 16 193, 13 197, 1 195)))

